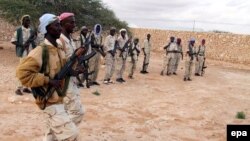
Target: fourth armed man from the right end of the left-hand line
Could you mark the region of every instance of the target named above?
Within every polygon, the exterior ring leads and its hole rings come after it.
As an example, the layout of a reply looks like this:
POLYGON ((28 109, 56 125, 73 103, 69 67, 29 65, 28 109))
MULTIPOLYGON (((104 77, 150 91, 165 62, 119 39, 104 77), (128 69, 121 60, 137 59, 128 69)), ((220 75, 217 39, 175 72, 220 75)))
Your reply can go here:
POLYGON ((106 51, 105 56, 105 64, 106 64, 106 72, 104 77, 104 84, 113 83, 111 80, 114 71, 115 71, 115 53, 118 43, 115 37, 116 28, 111 27, 109 35, 105 39, 104 48, 106 51))

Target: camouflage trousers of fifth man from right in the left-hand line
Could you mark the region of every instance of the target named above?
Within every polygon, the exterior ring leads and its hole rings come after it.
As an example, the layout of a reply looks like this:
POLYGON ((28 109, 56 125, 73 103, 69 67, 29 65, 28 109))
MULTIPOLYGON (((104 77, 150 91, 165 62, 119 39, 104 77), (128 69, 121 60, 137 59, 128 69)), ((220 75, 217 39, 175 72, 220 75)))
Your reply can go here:
POLYGON ((96 55, 89 60, 89 72, 93 72, 93 74, 90 75, 90 80, 92 82, 96 82, 97 80, 97 76, 100 69, 100 60, 100 53, 96 53, 96 55))

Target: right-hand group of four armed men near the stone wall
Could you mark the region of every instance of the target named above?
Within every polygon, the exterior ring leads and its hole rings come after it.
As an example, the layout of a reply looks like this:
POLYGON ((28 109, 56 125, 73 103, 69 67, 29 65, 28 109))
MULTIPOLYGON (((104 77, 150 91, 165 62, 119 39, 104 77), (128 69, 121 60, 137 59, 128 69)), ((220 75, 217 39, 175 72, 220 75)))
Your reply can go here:
MULTIPOLYGON (((195 39, 191 38, 188 44, 188 49, 185 54, 185 75, 184 81, 191 81, 191 74, 193 64, 195 63, 195 76, 202 76, 203 69, 205 67, 205 59, 206 59, 206 46, 205 39, 202 39, 201 45, 198 47, 195 46, 195 39), (196 62, 194 62, 196 61, 196 62)), ((181 39, 177 38, 175 41, 175 37, 170 37, 170 42, 168 45, 164 46, 164 50, 166 55, 164 56, 163 69, 161 71, 161 75, 177 75, 176 71, 178 69, 180 60, 183 60, 183 50, 181 39)))

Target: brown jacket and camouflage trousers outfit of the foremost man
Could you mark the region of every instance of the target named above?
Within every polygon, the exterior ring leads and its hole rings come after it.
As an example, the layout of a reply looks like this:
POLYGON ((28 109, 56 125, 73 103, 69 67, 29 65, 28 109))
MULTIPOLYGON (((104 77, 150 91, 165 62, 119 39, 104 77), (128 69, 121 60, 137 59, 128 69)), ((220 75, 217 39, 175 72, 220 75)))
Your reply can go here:
MULTIPOLYGON (((44 40, 49 52, 49 60, 47 64, 47 71, 40 73, 42 66, 42 52, 43 47, 38 46, 24 60, 17 68, 17 77, 23 85, 28 87, 48 87, 49 79, 54 78, 63 65, 66 63, 66 55, 62 46, 54 47, 47 39, 44 40)), ((63 96, 59 96, 54 92, 48 99, 46 108, 43 110, 46 119, 46 133, 44 141, 55 140, 76 140, 78 137, 78 129, 63 104, 63 96)), ((42 108, 44 101, 37 96, 36 104, 42 108)))

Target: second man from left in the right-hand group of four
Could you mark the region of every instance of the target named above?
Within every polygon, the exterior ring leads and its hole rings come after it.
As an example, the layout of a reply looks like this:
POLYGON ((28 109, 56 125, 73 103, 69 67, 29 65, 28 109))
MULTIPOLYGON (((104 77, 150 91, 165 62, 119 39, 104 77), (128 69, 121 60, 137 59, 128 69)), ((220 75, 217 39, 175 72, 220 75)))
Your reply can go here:
POLYGON ((181 38, 177 38, 177 53, 175 54, 175 65, 174 65, 174 75, 177 75, 176 71, 178 69, 179 63, 181 59, 183 60, 183 52, 182 52, 182 44, 181 44, 181 38))

